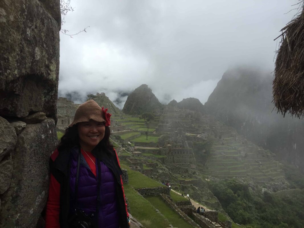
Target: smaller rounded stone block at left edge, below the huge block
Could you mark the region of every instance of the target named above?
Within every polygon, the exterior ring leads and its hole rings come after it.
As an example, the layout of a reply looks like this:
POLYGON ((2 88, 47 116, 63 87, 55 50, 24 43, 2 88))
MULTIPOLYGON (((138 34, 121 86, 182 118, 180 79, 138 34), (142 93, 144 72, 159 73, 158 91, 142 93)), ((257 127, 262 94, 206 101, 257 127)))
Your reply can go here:
POLYGON ((15 128, 9 122, 0 116, 0 161, 10 153, 17 142, 15 128))

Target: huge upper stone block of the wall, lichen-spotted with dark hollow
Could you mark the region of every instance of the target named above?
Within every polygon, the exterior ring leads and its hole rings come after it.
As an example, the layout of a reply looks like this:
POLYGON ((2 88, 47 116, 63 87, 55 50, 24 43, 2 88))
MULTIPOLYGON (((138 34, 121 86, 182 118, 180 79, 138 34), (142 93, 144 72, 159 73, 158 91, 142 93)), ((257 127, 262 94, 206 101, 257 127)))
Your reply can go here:
POLYGON ((56 118, 59 30, 59 0, 0 1, 1 116, 56 118))

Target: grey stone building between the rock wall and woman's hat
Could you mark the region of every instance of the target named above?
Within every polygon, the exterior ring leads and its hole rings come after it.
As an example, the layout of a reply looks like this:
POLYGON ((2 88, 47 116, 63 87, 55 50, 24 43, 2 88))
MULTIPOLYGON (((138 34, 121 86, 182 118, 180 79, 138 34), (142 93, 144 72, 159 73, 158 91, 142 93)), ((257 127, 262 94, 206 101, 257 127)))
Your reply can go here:
POLYGON ((78 104, 69 101, 65 97, 60 97, 57 100, 57 131, 64 131, 67 126, 73 122, 78 104))

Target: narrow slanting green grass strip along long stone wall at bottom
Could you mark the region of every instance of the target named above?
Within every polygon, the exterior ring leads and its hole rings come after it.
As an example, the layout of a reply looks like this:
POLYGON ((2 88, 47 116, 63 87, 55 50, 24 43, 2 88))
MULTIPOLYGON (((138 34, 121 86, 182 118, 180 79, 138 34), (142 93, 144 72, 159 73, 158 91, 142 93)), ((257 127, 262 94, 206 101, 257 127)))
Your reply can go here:
MULTIPOLYGON (((193 228, 190 224, 186 223, 177 213, 174 212, 159 196, 145 197, 155 208, 157 208, 174 226, 178 228, 193 228)), ((158 226, 154 226, 158 227, 158 226)))

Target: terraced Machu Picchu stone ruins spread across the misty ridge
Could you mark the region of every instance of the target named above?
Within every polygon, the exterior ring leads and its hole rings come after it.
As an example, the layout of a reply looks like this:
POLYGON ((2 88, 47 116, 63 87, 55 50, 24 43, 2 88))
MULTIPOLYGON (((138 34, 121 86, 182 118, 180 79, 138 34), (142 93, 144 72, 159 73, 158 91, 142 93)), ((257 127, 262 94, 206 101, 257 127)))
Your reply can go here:
MULTIPOLYGON (((88 95, 89 99, 97 100, 98 97, 104 98, 106 95, 88 95)), ((63 98, 58 101, 60 107, 57 109, 77 106, 63 98)), ((215 116, 206 114, 202 104, 199 110, 186 109, 191 107, 186 101, 192 104, 194 100, 184 99, 183 108, 173 100, 162 109, 148 109, 155 115, 149 132, 140 114, 112 113, 111 142, 127 172, 138 172, 159 183, 169 183, 172 191, 184 192, 185 195, 190 193, 193 203, 199 202, 203 207, 223 214, 221 218, 225 221, 211 221, 206 214, 199 217, 191 214, 193 208, 180 208, 185 211, 184 217, 189 224, 200 226, 203 223, 204 227, 231 227, 231 224, 235 224, 230 223, 219 199, 208 187, 211 182, 230 179, 255 186, 252 188, 265 185, 271 191, 288 188, 284 165, 275 160, 275 154, 238 134, 236 129, 221 123, 215 116)), ((110 106, 113 104, 108 103, 110 106)), ((72 114, 72 111, 69 113, 72 114)), ((143 197, 163 194, 158 192, 162 189, 142 187, 137 190, 143 197)))

